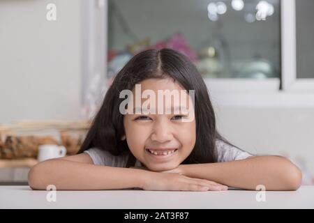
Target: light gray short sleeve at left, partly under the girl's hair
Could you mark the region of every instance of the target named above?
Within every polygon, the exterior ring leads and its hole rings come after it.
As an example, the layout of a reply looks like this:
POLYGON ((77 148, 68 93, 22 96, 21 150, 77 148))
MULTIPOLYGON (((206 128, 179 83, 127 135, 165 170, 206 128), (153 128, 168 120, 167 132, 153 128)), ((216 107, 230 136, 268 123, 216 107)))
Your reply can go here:
POLYGON ((128 158, 128 155, 112 155, 108 151, 105 151, 101 148, 89 148, 88 150, 84 151, 84 153, 89 154, 94 164, 110 167, 126 167, 128 158))

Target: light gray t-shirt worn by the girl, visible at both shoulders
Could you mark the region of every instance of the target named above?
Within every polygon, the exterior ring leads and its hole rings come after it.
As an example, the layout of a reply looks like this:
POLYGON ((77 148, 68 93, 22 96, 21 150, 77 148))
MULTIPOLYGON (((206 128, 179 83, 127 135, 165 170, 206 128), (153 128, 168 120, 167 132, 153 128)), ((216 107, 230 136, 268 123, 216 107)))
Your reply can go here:
MULTIPOLYGON (((224 141, 216 140, 216 148, 218 153, 218 162, 228 162, 233 160, 244 160, 249 156, 253 156, 250 153, 241 151, 239 148, 230 146, 224 141)), ((126 167, 128 162, 128 155, 116 156, 112 155, 108 151, 104 151, 100 148, 89 148, 84 153, 89 154, 91 160, 96 165, 105 165, 110 167, 126 167)), ((136 160, 135 167, 142 167, 139 160, 136 160)))

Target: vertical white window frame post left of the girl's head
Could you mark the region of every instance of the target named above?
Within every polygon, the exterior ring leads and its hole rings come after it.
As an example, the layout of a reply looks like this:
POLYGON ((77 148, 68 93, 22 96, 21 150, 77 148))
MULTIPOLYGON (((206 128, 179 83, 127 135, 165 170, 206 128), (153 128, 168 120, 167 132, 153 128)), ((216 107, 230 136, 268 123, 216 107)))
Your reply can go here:
POLYGON ((81 23, 81 105, 89 119, 107 92, 107 0, 81 1, 81 23))

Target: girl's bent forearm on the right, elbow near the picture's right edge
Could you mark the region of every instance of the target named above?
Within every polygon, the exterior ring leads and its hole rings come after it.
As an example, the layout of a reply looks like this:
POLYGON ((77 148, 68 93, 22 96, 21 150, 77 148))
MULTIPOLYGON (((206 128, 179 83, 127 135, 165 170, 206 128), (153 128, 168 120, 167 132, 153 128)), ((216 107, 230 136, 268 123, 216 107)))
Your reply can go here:
POLYGON ((205 178, 230 187, 256 190, 264 185, 266 190, 297 190, 302 174, 297 166, 285 157, 259 156, 232 162, 186 164, 183 174, 205 178))

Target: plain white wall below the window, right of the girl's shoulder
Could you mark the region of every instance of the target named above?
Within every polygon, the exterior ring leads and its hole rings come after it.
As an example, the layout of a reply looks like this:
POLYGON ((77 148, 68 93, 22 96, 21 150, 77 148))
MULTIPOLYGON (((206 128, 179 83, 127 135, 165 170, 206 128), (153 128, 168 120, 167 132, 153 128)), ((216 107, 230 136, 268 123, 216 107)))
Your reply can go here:
POLYGON ((314 176, 314 108, 215 107, 218 130, 257 155, 289 155, 314 176))

